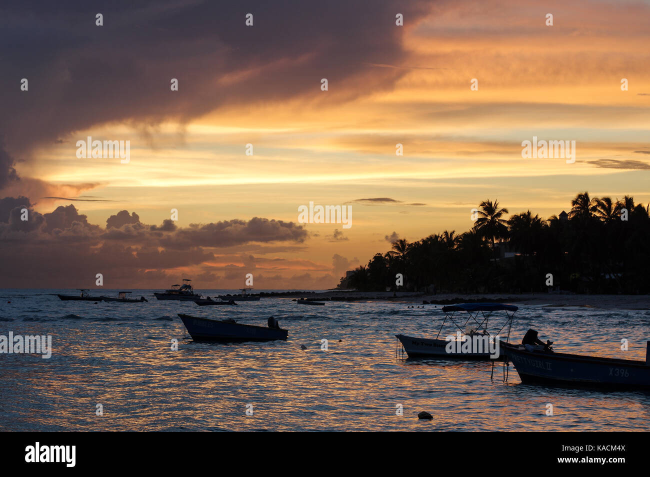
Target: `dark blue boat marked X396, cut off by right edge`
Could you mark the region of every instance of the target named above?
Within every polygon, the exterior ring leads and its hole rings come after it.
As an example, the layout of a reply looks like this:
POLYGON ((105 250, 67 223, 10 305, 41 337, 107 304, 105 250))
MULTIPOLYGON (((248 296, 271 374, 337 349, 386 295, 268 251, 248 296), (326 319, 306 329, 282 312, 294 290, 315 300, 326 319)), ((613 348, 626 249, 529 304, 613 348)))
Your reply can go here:
POLYGON ((650 389, 650 341, 645 361, 534 350, 521 344, 506 345, 506 353, 525 384, 650 389))

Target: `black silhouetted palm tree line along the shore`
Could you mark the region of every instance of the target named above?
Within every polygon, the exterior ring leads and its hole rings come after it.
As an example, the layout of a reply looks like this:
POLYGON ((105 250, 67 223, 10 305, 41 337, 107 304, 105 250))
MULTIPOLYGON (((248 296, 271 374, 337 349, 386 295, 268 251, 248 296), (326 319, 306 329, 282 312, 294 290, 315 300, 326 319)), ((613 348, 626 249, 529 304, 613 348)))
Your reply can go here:
POLYGON ((526 211, 506 220, 508 209, 486 200, 469 231, 396 240, 391 250, 341 277, 338 288, 645 294, 650 292, 649 209, 630 196, 612 200, 581 192, 568 214, 545 220, 526 211))

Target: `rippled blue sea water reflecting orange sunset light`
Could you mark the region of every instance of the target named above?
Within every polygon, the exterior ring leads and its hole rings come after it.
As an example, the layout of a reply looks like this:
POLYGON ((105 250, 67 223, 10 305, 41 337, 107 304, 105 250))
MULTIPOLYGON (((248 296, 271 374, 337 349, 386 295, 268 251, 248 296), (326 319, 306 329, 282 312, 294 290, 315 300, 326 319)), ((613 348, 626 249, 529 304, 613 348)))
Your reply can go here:
MULTIPOLYGON (((501 365, 490 380, 489 363, 398 359, 395 334, 437 334, 443 315, 433 306, 305 309, 263 298, 206 309, 159 300, 61 302, 49 295, 57 292, 0 292, 0 335, 50 334, 54 348, 51 359, 0 355, 0 430, 641 431, 650 424, 650 394, 522 385, 512 367, 504 383, 501 365), (184 341, 179 312, 261 326, 273 315, 289 341, 184 341), (418 420, 419 411, 434 419, 418 420)), ((521 307, 512 341, 535 328, 558 352, 643 360, 649 323, 647 310, 521 307), (623 338, 628 352, 620 350, 623 338)))

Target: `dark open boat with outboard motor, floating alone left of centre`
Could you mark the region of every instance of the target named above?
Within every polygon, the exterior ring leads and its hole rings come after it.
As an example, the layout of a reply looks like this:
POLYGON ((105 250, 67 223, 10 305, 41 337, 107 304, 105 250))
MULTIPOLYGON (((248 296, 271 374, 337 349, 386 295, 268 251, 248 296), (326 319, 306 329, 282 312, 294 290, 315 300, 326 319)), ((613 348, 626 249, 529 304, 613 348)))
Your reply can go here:
POLYGON ((246 342, 287 340, 289 332, 281 328, 245 325, 235 320, 210 320, 197 316, 178 316, 194 341, 246 342))

